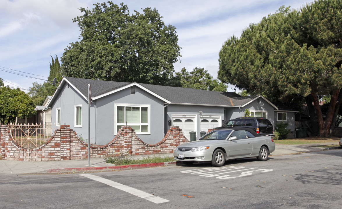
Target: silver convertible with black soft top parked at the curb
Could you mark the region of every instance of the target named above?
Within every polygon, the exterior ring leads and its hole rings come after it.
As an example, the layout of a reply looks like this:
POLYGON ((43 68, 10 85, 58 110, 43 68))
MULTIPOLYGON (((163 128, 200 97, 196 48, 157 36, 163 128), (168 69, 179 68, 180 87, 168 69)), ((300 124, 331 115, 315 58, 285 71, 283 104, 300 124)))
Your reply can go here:
POLYGON ((228 128, 209 132, 197 141, 175 148, 174 159, 185 164, 211 161, 213 166, 223 166, 226 160, 257 157, 266 161, 275 150, 271 137, 260 136, 251 129, 228 128))

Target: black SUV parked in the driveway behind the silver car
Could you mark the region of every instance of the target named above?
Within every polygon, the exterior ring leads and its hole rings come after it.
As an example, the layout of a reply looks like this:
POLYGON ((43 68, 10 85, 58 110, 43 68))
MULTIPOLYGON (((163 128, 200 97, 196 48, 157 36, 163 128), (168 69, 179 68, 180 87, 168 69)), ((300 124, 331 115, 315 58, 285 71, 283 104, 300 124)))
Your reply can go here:
POLYGON ((260 135, 271 135, 273 136, 273 125, 266 118, 257 117, 241 117, 233 120, 228 120, 224 126, 217 127, 216 129, 229 128, 229 127, 244 127, 253 129, 257 134, 260 135))

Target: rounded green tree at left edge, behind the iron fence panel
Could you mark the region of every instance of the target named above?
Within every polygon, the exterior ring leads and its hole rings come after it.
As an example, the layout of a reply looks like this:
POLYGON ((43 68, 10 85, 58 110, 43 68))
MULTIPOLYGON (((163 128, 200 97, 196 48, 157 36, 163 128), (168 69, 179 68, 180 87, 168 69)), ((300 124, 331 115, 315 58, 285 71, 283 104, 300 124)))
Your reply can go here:
POLYGON ((19 88, 0 87, 0 123, 14 123, 15 118, 31 117, 36 114, 36 105, 19 88))

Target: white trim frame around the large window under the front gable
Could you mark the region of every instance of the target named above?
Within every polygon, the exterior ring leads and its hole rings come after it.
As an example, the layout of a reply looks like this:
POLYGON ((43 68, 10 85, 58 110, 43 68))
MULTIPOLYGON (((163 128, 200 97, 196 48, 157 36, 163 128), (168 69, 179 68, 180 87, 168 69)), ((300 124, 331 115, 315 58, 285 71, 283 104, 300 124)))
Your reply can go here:
POLYGON ((147 107, 147 123, 127 123, 127 125, 146 125, 147 124, 147 132, 135 132, 138 135, 147 135, 151 134, 151 105, 150 104, 124 104, 124 103, 115 103, 114 105, 114 135, 118 133, 117 130, 118 125, 126 125, 125 123, 117 123, 117 110, 118 106, 128 106, 128 107, 147 107))

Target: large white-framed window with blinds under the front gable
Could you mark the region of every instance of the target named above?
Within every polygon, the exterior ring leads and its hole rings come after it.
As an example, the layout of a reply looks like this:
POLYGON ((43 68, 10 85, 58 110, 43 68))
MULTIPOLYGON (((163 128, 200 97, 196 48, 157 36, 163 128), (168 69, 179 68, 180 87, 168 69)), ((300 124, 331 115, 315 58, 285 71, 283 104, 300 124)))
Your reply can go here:
POLYGON ((150 133, 150 105, 116 105, 116 132, 122 125, 130 125, 137 134, 150 133))

